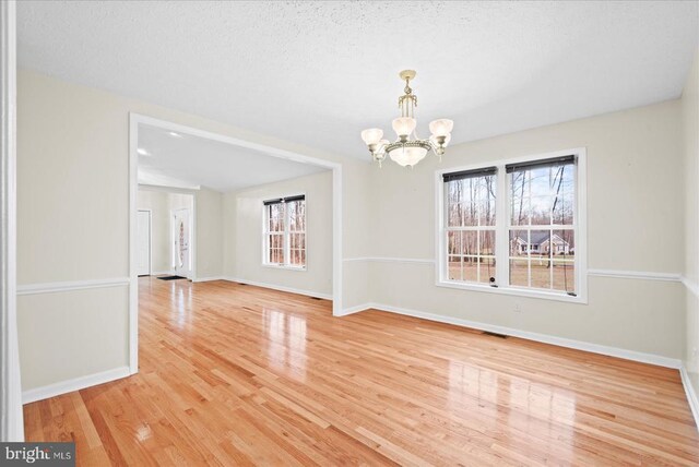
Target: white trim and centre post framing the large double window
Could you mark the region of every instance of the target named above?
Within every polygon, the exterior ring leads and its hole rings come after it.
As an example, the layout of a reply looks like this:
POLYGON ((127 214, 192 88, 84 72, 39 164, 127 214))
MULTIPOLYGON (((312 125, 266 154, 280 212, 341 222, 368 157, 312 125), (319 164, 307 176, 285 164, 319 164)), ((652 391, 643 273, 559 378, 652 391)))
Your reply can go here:
MULTIPOLYGON (((535 154, 528 155, 522 157, 516 157, 503 160, 484 160, 481 164, 472 164, 469 166, 460 166, 460 167, 450 167, 448 169, 437 170, 435 172, 435 277, 436 277, 436 286, 438 287, 447 287, 447 288, 455 288, 462 290, 473 290, 481 292, 489 292, 489 294, 500 294, 508 296, 519 296, 519 297, 530 297, 530 298, 540 298, 546 300, 558 300, 570 303, 588 303, 588 217, 587 217, 587 207, 588 207, 588 180, 587 180, 587 148, 577 147, 572 149, 565 151, 556 151, 553 153, 545 154, 535 154), (497 266, 496 279, 498 287, 491 287, 487 284, 469 284, 455 280, 449 280, 447 275, 446 267, 446 235, 445 235, 445 189, 443 189, 443 180, 442 175, 450 173, 454 171, 461 170, 473 170, 483 167, 491 167, 495 166, 498 168, 498 190, 497 190, 497 200, 496 203, 496 218, 498 219, 496 224, 496 252, 500 252, 496 255, 496 259, 507 258, 508 254, 502 255, 501 252, 509 252, 509 219, 507 207, 507 202, 501 202, 500 200, 507 200, 508 196, 508 177, 505 171, 505 166, 508 164, 523 163, 529 160, 537 160, 537 159, 547 159, 553 157, 561 157, 561 156, 577 156, 577 168, 576 168, 576 212, 574 212, 574 223, 577 226, 576 229, 576 292, 577 296, 569 296, 565 292, 556 292, 556 291, 547 291, 544 289, 529 289, 521 288, 517 286, 508 286, 508 274, 509 274, 509 261, 506 262, 506 266, 502 267, 500 265, 497 266)), ((501 261, 498 261, 501 263, 501 261)))

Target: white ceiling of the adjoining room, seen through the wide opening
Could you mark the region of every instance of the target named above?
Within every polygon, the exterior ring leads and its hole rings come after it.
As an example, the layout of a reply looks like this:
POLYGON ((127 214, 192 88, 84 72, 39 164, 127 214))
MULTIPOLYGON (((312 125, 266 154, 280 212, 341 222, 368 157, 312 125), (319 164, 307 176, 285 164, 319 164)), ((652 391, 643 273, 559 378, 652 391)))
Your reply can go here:
POLYGON ((327 170, 228 143, 139 125, 139 183, 226 193, 327 170))

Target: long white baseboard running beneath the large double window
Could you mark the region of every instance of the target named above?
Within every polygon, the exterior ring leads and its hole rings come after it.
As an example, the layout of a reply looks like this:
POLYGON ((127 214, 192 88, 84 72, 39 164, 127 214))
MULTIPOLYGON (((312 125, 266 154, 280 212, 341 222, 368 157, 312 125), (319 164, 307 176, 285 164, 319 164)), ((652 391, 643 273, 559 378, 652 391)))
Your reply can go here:
POLYGON ((609 357, 623 358, 626 360, 638 361, 641 363, 650 363, 650 364, 656 364, 659 367, 666 367, 666 368, 674 368, 674 369, 682 368, 682 360, 675 359, 675 358, 663 357, 654 354, 644 354, 644 352, 639 352, 635 350, 627 350, 627 349, 621 349, 617 347, 603 346, 600 344, 585 343, 581 340, 567 339, 564 337, 556 337, 547 334, 531 333, 528 331, 520 331, 512 327, 498 326, 496 324, 481 323, 477 321, 462 320, 460 318, 443 316, 440 314, 427 313, 427 312, 417 311, 417 310, 408 310, 405 308, 392 307, 383 303, 366 303, 364 306, 353 307, 353 308, 343 310, 343 313, 341 315, 347 315, 347 314, 356 313, 358 311, 363 311, 362 307, 364 307, 364 310, 372 308, 380 311, 387 311, 389 313, 404 314, 406 316, 422 318, 424 320, 437 321, 439 323, 454 324, 457 326, 464 326, 464 327, 471 327, 479 331, 488 331, 491 333, 506 334, 512 337, 520 337, 523 339, 534 340, 537 343, 552 344, 559 347, 584 350, 593 354, 606 355, 609 357))

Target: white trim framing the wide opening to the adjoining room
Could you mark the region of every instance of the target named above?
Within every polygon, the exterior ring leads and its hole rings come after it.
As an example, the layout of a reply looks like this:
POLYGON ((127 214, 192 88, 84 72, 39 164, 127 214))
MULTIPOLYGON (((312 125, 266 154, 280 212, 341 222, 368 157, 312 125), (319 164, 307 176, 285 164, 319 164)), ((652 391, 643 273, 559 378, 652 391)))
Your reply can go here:
MULTIPOLYGON (((215 122, 214 122, 215 123, 215 122)), ((342 164, 327 159, 307 156, 280 147, 254 143, 239 137, 214 133, 186 124, 161 120, 135 112, 129 112, 129 370, 131 374, 139 371, 139 282, 135 274, 135 211, 137 194, 139 189, 137 153, 139 144, 139 124, 157 127, 163 130, 191 134, 218 141, 235 146, 263 152, 270 156, 292 160, 300 164, 310 164, 332 170, 332 313, 342 315, 342 164)), ((217 124, 217 128, 223 128, 217 124)), ((235 131, 235 130, 234 130, 235 131)), ((170 190, 177 191, 177 190, 170 190)), ((193 196, 192 223, 196 223, 197 196, 193 196)), ((196 225, 196 224, 193 224, 196 225)), ((194 232, 196 235, 196 232, 194 232)), ((190 235, 191 240, 196 237, 190 235)), ((197 279, 196 250, 193 251, 192 280, 197 279)))

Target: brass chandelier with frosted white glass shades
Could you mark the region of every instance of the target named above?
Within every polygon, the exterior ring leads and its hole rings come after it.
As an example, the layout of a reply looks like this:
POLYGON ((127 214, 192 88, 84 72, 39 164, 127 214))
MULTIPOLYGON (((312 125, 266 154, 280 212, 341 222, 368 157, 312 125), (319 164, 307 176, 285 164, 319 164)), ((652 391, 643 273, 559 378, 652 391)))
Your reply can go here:
POLYGON ((415 79, 416 74, 415 70, 403 70, 399 74, 401 80, 405 81, 403 89, 405 94, 398 98, 401 117, 393 120, 393 131, 395 131, 398 140, 393 143, 389 140, 382 140, 383 130, 379 128, 370 128, 362 132, 362 139, 369 148, 374 160, 379 163, 379 167, 381 167, 387 154, 398 165, 411 168, 423 160, 430 151, 441 159, 451 140, 454 122, 447 119, 438 119, 429 123, 431 135, 428 140, 420 140, 417 136, 415 132, 417 121, 414 116, 417 96, 413 94, 411 88, 411 80, 415 79))

